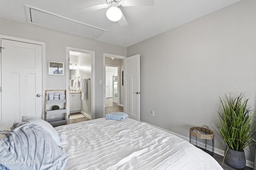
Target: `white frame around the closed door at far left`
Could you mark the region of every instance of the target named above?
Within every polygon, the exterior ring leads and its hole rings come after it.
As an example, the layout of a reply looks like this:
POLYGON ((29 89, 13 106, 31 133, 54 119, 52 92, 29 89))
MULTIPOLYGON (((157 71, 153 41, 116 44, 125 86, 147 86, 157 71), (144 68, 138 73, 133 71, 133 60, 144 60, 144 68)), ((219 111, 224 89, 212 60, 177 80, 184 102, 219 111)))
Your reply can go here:
MULTIPOLYGON (((0 39, 8 39, 8 40, 14 40, 14 41, 21 41, 24 43, 31 43, 31 44, 37 44, 37 45, 42 45, 42 119, 44 119, 44 109, 45 109, 45 87, 46 87, 46 82, 45 82, 45 77, 46 77, 46 69, 45 69, 45 43, 40 42, 40 41, 33 41, 33 40, 29 40, 29 39, 22 39, 22 38, 17 38, 17 37, 10 37, 10 36, 6 36, 6 35, 0 35, 0 39)), ((1 47, 1 44, 0 44, 1 47)), ((0 60, 0 77, 1 77, 1 60, 0 60)), ((0 78, 0 84, 2 84, 1 82, 1 78, 0 78)), ((2 115, 2 95, 0 95, 0 115, 2 115)), ((0 121, 2 121, 2 117, 0 118, 0 121)))

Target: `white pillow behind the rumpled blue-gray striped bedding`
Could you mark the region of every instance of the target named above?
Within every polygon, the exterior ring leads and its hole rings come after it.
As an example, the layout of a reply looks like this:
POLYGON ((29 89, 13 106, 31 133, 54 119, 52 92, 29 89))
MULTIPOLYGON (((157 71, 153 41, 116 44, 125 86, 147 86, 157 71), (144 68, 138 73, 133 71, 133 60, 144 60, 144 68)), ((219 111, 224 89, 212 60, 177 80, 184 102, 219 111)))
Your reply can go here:
POLYGON ((32 117, 32 116, 22 116, 22 121, 26 121, 26 122, 41 126, 51 134, 52 138, 56 141, 57 145, 60 145, 60 136, 58 132, 47 121, 44 121, 43 119, 32 117))

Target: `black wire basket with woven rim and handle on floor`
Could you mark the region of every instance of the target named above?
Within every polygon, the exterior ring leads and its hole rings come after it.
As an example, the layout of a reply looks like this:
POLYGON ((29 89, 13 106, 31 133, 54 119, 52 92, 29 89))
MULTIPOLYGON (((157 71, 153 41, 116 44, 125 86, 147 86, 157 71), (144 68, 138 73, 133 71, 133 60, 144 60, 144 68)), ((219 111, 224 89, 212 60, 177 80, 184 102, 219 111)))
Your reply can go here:
POLYGON ((189 129, 189 142, 204 150, 210 155, 214 154, 214 133, 204 127, 191 127, 189 129))

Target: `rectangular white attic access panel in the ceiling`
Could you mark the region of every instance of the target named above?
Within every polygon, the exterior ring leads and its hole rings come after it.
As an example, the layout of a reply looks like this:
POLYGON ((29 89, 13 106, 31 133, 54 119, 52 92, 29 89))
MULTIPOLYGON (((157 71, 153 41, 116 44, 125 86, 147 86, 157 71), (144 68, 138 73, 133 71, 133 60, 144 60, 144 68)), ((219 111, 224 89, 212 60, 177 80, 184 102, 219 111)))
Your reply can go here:
POLYGON ((73 33, 83 37, 98 39, 107 30, 52 14, 31 6, 26 6, 28 23, 73 33))

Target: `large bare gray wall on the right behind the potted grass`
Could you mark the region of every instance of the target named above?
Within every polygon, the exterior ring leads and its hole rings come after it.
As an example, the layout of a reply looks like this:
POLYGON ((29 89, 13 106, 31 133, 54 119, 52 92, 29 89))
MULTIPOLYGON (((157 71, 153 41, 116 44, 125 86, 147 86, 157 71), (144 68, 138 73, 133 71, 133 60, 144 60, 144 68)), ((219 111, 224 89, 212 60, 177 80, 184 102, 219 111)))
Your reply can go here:
POLYGON ((223 93, 245 92, 255 108, 255 9, 242 0, 128 47, 127 56, 141 57, 141 120, 189 137, 190 127, 213 130, 223 93))

